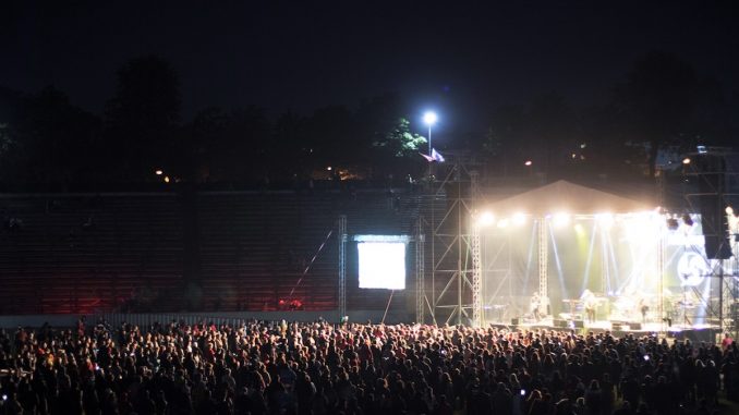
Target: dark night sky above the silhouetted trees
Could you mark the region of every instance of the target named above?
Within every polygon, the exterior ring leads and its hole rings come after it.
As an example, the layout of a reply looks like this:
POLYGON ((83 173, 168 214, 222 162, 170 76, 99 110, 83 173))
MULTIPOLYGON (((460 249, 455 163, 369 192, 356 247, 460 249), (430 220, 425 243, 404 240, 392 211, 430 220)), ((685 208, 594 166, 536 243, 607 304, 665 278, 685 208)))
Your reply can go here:
POLYGON ((678 53, 727 93, 739 88, 730 1, 108 3, 2 2, 0 85, 54 84, 101 113, 116 70, 155 53, 181 77, 184 119, 211 105, 308 112, 397 91, 419 113, 437 108, 441 132, 480 131, 490 108, 546 91, 603 101, 653 49, 678 53))

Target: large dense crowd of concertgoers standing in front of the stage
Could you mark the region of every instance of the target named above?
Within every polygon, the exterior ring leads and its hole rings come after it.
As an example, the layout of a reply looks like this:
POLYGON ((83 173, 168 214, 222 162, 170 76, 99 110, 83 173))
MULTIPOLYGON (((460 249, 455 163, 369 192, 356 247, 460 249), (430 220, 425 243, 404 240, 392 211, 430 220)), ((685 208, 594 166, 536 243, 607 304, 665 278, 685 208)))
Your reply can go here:
POLYGON ((0 332, 0 414, 713 414, 738 357, 728 338, 81 321, 0 332))

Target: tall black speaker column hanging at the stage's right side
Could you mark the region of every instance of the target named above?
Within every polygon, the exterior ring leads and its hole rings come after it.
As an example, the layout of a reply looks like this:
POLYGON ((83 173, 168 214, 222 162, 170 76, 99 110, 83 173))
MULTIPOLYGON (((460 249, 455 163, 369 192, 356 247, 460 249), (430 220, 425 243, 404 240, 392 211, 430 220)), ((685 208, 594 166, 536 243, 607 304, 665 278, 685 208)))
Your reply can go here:
POLYGON ((701 154, 695 161, 705 255, 708 259, 729 259, 731 243, 724 200, 726 160, 720 155, 701 154))

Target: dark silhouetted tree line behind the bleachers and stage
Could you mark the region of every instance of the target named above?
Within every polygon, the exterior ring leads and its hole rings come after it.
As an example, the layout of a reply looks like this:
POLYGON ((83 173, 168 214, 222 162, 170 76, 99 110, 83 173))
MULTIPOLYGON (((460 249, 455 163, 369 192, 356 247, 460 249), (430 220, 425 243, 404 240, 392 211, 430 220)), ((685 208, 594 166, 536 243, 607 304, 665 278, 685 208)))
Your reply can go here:
MULTIPOLYGON (((736 94, 726 96, 715 80, 674 54, 641 57, 609 87, 606 103, 585 109, 557 93, 492 109, 485 132, 452 132, 449 142, 483 156, 494 175, 644 178, 655 174, 662 155, 730 145, 736 135, 736 94)), ((208 107, 183 121, 181 105, 175 71, 154 56, 118 71, 101 115, 75 107, 53 86, 36 94, 0 87, 0 182, 143 183, 166 176, 254 185, 419 178, 425 171, 417 152, 425 152, 426 138, 411 131, 416 111, 399 95, 276 118, 256 106, 208 107)))

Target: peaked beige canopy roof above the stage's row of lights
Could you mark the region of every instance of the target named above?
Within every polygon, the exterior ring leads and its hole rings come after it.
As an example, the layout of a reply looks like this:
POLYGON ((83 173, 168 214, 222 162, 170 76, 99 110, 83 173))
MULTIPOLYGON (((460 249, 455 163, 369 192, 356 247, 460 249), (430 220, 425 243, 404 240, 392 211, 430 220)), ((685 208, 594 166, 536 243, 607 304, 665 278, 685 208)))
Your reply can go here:
POLYGON ((487 208, 495 215, 522 212, 546 216, 557 212, 570 215, 629 213, 650 210, 654 206, 560 180, 499 200, 487 208))

